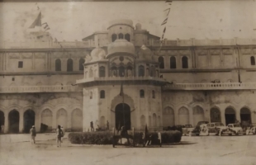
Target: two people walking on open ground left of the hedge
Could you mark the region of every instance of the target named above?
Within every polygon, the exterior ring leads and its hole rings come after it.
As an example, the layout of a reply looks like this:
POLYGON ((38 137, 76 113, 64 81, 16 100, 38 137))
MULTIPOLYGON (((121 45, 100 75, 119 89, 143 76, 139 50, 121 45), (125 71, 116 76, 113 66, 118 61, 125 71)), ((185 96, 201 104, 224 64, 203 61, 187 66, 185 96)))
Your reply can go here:
MULTIPOLYGON (((36 128, 35 125, 32 126, 30 130, 31 134, 31 144, 36 144, 36 128)), ((61 143, 63 143, 63 137, 64 137, 65 131, 63 126, 58 125, 56 130, 56 143, 57 147, 61 146, 61 143)))

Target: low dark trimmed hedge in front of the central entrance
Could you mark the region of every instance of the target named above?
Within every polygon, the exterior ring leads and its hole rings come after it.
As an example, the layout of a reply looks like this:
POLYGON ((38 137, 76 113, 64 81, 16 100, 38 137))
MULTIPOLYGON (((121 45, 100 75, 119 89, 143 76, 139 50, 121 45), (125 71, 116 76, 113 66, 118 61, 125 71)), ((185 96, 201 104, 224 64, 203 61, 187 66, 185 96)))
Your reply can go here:
MULTIPOLYGON (((182 133, 178 130, 160 131, 162 135, 162 144, 178 143, 182 139, 182 133)), ((151 144, 159 144, 158 132, 149 132, 152 134, 151 144)), ((113 140, 117 143, 120 135, 115 135, 111 131, 96 131, 96 132, 80 132, 70 133, 69 141, 71 144, 112 144, 113 140)), ((129 134, 129 139, 133 139, 133 135, 129 134)), ((135 132, 135 144, 143 144, 142 132, 135 132)))

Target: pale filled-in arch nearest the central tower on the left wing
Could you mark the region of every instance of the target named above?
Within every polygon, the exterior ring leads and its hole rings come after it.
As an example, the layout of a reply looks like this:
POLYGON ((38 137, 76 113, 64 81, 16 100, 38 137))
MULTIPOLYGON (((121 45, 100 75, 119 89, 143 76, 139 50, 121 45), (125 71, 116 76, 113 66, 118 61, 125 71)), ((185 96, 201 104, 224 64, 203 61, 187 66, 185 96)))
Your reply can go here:
POLYGON ((72 112, 71 130, 73 131, 83 130, 83 112, 79 109, 75 109, 72 112))

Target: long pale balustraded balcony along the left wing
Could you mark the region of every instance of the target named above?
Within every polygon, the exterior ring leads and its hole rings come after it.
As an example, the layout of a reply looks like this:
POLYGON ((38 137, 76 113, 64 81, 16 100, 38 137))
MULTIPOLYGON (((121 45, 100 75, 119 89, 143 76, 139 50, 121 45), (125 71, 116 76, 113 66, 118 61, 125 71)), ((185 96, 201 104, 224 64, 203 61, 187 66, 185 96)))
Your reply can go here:
POLYGON ((82 92, 77 86, 12 86, 0 87, 0 93, 34 93, 34 92, 82 92))

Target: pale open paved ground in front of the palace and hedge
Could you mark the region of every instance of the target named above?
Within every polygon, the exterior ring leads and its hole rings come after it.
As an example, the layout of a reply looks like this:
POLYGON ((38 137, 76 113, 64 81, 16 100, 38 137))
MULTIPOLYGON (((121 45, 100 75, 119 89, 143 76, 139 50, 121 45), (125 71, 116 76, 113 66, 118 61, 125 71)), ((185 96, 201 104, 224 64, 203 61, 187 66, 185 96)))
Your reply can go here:
POLYGON ((57 148, 54 139, 55 134, 37 134, 36 144, 30 144, 27 134, 0 135, 0 164, 256 164, 256 135, 183 136, 180 144, 162 148, 81 146, 67 139, 57 148))

